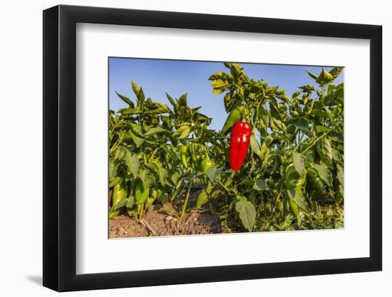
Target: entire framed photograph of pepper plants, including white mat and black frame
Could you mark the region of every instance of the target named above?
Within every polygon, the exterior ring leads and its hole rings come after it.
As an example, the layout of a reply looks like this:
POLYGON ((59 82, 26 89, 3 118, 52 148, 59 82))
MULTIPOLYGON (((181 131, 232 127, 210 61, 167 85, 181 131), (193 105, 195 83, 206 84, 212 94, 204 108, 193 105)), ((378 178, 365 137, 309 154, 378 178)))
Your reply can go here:
POLYGON ((381 35, 43 11, 43 286, 380 271, 381 35))

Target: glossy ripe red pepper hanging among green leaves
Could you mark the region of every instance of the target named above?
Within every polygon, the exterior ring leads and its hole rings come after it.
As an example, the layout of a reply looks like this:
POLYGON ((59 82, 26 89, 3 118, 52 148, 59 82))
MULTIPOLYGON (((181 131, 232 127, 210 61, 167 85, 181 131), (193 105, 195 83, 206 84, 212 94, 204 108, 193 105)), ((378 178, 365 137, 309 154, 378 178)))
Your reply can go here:
POLYGON ((242 163, 247 156, 250 136, 252 135, 252 127, 242 121, 238 121, 232 127, 232 135, 230 136, 230 167, 234 172, 241 168, 242 163))

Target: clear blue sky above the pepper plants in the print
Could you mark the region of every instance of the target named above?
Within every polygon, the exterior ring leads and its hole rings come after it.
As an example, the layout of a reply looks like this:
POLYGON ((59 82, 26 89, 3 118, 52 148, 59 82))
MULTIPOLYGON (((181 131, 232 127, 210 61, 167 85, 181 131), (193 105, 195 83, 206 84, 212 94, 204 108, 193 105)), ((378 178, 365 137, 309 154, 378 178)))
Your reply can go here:
MULTIPOLYGON (((311 71, 317 75, 319 66, 288 66, 275 64, 239 63, 245 73, 254 80, 267 80, 269 85, 279 85, 287 95, 298 90, 301 85, 314 84, 314 80, 306 73, 311 71)), ((331 68, 326 67, 326 70, 331 68)), ((229 71, 221 62, 172 61, 158 59, 109 58, 109 106, 117 111, 126 107, 115 91, 135 102, 130 82, 140 85, 146 98, 162 102, 170 106, 165 93, 179 98, 187 93, 188 105, 192 108, 201 106, 201 113, 212 118, 210 129, 220 130, 227 114, 223 104, 223 95, 212 93, 210 75, 217 71, 229 71)), ((343 82, 343 73, 335 81, 343 82)))

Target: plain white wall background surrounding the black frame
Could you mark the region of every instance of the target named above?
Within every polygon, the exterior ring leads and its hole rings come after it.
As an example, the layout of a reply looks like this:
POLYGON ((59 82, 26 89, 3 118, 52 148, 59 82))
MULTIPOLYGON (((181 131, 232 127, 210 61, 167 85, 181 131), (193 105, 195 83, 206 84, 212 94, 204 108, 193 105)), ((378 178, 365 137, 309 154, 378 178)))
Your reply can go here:
MULTIPOLYGON (((42 271, 42 10, 57 1, 6 1, 0 12, 0 292, 3 296, 53 296, 41 287, 42 271)), ((392 104, 386 88, 392 68, 388 1, 66 1, 61 4, 207 14, 264 16, 383 25, 383 271, 182 286, 67 293, 67 296, 391 296, 392 104), (317 3, 321 5, 318 6, 317 3)), ((360 185, 359 185, 360 186, 360 185)))

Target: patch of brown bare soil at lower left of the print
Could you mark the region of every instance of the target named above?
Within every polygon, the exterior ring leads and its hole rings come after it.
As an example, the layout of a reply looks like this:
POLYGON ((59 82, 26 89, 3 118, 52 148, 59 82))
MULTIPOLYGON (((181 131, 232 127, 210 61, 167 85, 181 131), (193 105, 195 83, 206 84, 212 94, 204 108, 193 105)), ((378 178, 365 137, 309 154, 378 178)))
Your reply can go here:
POLYGON ((197 209, 187 210, 182 220, 175 217, 171 204, 150 205, 142 220, 120 214, 110 219, 109 237, 145 237, 227 233, 217 217, 197 209), (173 215, 170 215, 173 214, 173 215))

